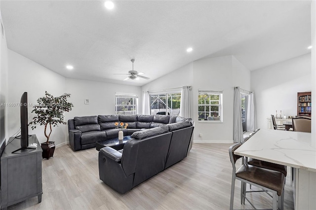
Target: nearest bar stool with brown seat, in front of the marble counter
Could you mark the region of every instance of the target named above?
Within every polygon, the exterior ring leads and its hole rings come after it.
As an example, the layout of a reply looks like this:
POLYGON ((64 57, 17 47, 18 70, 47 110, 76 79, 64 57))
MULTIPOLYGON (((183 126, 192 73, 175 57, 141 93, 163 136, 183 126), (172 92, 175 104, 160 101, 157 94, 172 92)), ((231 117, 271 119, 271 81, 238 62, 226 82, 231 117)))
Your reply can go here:
POLYGON ((243 191, 243 186, 246 183, 259 187, 263 190, 272 192, 273 194, 273 210, 283 209, 283 201, 284 201, 284 183, 285 176, 281 172, 264 169, 257 166, 245 165, 242 162, 241 166, 236 170, 236 161, 239 158, 243 158, 242 156, 235 155, 234 151, 241 145, 241 143, 235 143, 229 148, 229 155, 231 159, 231 163, 233 166, 233 174, 232 174, 232 188, 231 188, 231 203, 230 210, 233 210, 234 206, 234 192, 235 192, 235 181, 236 179, 241 181, 241 203, 243 198, 246 199, 250 205, 254 207, 254 205, 249 201, 246 197, 245 191, 243 191))

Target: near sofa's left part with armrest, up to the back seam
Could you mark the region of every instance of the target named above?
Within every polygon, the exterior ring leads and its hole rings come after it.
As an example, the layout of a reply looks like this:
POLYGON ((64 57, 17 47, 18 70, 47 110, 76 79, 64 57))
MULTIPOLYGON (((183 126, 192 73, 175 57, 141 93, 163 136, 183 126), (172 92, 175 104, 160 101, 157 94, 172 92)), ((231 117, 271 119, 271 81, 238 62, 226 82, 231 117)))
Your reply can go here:
POLYGON ((121 194, 164 169, 172 133, 167 126, 143 132, 147 137, 135 139, 133 134, 123 153, 111 147, 100 149, 100 179, 121 194))

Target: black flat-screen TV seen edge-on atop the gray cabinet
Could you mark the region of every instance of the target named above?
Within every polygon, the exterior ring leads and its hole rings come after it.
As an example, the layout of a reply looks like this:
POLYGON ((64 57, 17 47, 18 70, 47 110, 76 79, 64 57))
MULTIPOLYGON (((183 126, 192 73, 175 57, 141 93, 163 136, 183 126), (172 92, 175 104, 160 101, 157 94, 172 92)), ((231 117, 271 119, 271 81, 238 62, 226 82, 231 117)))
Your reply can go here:
POLYGON ((29 149, 29 122, 28 122, 28 93, 24 92, 20 102, 20 119, 21 119, 21 148, 13 151, 17 152, 23 149, 29 149))

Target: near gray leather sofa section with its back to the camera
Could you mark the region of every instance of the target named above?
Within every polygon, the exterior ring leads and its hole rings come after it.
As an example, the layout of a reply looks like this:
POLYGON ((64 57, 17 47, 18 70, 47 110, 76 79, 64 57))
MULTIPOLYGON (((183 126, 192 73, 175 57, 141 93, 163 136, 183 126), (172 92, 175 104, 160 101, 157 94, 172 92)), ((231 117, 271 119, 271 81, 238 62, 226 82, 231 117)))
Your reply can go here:
POLYGON ((187 156, 194 127, 177 122, 138 131, 117 151, 99 151, 99 176, 107 185, 124 194, 150 177, 187 156))

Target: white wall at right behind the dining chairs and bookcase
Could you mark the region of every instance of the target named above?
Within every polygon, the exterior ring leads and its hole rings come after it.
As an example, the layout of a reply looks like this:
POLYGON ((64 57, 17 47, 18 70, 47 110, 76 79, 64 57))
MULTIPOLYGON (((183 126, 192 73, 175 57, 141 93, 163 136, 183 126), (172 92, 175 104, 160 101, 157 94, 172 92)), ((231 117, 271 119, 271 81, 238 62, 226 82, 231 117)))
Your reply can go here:
POLYGON ((311 91, 311 54, 251 71, 257 128, 268 128, 271 114, 297 115, 297 93, 311 91))

